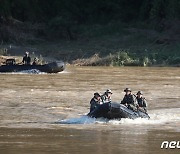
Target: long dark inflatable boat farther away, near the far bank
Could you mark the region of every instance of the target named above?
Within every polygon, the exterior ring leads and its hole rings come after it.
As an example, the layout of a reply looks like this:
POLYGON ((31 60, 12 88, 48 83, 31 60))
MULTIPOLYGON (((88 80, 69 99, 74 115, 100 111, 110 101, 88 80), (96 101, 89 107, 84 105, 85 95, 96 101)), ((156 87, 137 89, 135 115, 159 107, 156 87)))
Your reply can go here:
POLYGON ((58 73, 65 69, 64 62, 52 62, 44 65, 17 65, 15 64, 12 59, 9 60, 11 62, 6 62, 6 65, 0 66, 0 72, 20 72, 26 70, 36 69, 40 72, 46 73, 58 73))

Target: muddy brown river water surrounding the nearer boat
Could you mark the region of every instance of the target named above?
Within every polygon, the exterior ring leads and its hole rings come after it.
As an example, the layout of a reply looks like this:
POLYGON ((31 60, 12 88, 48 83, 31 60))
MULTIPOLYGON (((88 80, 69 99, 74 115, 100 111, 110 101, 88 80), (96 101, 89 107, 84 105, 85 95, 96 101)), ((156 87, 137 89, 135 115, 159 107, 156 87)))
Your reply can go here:
POLYGON ((67 67, 58 74, 0 74, 0 153, 180 153, 180 69, 67 67), (150 120, 85 116, 94 92, 144 92, 150 120))

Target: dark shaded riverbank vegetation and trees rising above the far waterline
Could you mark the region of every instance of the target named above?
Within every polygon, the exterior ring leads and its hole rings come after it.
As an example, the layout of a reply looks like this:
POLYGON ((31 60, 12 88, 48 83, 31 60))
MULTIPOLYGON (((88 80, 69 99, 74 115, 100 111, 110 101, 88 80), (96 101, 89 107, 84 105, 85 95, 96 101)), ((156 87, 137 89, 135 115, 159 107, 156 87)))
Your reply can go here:
POLYGON ((1 0, 0 17, 3 50, 28 46, 76 65, 180 65, 180 0, 1 0))

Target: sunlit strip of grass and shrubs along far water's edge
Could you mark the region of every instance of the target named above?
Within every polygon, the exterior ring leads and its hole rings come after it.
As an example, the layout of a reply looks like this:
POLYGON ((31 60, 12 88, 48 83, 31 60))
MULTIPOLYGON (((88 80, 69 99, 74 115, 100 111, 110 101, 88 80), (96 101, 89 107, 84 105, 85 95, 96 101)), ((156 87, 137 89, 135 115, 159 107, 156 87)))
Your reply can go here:
POLYGON ((78 66, 180 66, 180 58, 158 54, 137 57, 129 52, 119 51, 103 58, 95 54, 90 58, 77 59, 72 63, 78 66))

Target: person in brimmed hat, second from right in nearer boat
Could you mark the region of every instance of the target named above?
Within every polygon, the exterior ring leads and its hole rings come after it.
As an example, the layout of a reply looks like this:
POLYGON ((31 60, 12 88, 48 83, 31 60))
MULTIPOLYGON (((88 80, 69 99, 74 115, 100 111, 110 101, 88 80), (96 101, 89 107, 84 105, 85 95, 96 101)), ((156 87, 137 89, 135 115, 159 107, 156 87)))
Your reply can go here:
POLYGON ((127 108, 133 111, 137 111, 138 104, 137 104, 136 96, 131 93, 130 88, 124 89, 124 92, 126 94, 124 95, 124 98, 121 101, 121 104, 127 106, 127 108))

